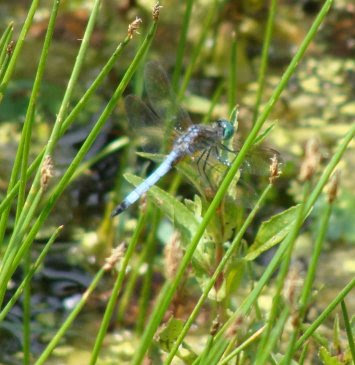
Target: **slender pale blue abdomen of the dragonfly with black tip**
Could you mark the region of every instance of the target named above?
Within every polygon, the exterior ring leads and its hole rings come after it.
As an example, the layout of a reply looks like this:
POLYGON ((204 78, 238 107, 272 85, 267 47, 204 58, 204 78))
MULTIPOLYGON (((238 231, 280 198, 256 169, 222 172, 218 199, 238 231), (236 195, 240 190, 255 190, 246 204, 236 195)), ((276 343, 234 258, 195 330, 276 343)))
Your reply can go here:
POLYGON ((171 151, 165 160, 151 173, 141 184, 139 184, 112 212, 112 217, 122 213, 130 205, 134 204, 144 193, 155 185, 165 174, 167 174, 173 165, 180 158, 179 153, 171 151))

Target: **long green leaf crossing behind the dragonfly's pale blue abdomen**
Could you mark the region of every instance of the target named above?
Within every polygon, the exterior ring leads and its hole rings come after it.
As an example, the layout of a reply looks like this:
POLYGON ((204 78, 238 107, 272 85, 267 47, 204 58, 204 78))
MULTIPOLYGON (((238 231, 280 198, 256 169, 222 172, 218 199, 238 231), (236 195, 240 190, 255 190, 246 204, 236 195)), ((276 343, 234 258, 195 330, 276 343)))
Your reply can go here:
MULTIPOLYGON (((124 177, 134 186, 137 186, 144 181, 144 179, 132 174, 125 174, 124 177)), ((148 191, 148 195, 153 199, 154 204, 164 212, 179 230, 182 241, 184 243, 189 242, 195 234, 199 224, 194 214, 179 200, 157 186, 151 187, 148 191)))

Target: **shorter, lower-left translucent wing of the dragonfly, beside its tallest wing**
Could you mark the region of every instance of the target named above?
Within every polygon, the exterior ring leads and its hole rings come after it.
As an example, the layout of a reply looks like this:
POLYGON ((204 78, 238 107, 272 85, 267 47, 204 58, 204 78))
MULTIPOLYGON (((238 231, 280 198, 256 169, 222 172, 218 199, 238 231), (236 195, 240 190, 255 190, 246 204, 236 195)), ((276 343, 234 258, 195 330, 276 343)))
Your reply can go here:
POLYGON ((158 116, 135 95, 126 96, 125 109, 129 129, 142 149, 146 152, 158 152, 164 137, 164 126, 158 116))

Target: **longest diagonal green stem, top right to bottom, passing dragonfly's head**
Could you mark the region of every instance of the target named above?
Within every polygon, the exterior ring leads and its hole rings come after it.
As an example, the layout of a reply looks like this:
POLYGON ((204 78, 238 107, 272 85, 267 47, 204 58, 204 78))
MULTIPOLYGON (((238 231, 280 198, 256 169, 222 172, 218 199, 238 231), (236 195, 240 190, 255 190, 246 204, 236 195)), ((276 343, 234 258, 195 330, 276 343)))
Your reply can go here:
MULTIPOLYGON (((212 219, 213 215, 215 214, 220 202, 222 201, 222 198, 225 194, 225 192, 227 191, 231 181, 233 180, 235 174, 237 173, 238 169, 240 168, 243 160, 245 159, 245 156, 248 152, 248 150, 252 147, 254 139, 256 138, 257 134, 259 133, 260 129, 262 128, 263 124, 265 123, 267 117, 269 116, 272 108, 274 107, 275 103, 277 102, 277 100, 279 99, 281 92, 283 91, 283 89, 286 87, 287 82, 289 81, 289 79, 291 78, 292 74, 294 73, 298 63, 300 62, 300 60, 302 59, 308 45, 310 44, 310 42, 312 41, 312 39, 314 38, 320 24, 322 23, 325 15, 327 14, 331 4, 332 4, 333 0, 327 0, 326 3, 324 4, 323 8, 321 9, 321 11, 319 12, 316 20, 314 21, 314 23, 311 26, 311 29, 309 30, 309 32, 307 33, 305 39, 303 40, 299 50, 297 51, 297 53, 295 54, 295 56, 293 57, 290 65, 288 66, 287 70, 285 71, 285 73, 283 74, 280 83, 278 84, 278 86, 276 87, 275 91, 273 92, 273 94, 271 95, 270 100, 268 101, 268 103, 266 104, 262 114, 259 116, 259 118, 257 119, 256 123, 254 124, 253 129, 251 130, 251 132, 249 133, 243 147, 241 148, 239 154, 237 155, 236 159, 234 160, 232 166, 230 167, 227 175, 225 176, 224 180, 221 183, 220 188, 218 189, 214 199, 212 200, 209 208, 206 211, 206 214, 204 215, 200 226, 198 227, 198 230, 195 234, 195 236, 193 237, 192 241, 190 242, 190 244, 188 245, 187 249, 186 249, 186 253, 181 261, 181 264, 178 268, 178 271, 176 273, 176 277, 173 280, 173 282, 170 285, 165 285, 164 288, 162 289, 162 294, 159 297, 159 300, 156 304, 156 307, 151 315, 151 319, 146 327, 146 330, 143 334, 142 340, 141 340, 141 344, 140 347, 138 348, 134 358, 133 358, 133 364, 140 364, 144 354, 146 353, 146 351, 148 350, 152 338, 154 336, 155 331, 157 330, 163 316, 164 313, 166 311, 166 309, 168 308, 170 301, 183 277, 183 274, 187 268, 187 266, 189 265, 191 258, 193 256, 193 253, 208 225, 208 223, 210 222, 210 220, 212 219)), ((355 125, 355 124, 354 124, 355 125)), ((313 195, 313 194, 312 194, 313 195)), ((311 197, 312 197, 311 195, 311 197)))

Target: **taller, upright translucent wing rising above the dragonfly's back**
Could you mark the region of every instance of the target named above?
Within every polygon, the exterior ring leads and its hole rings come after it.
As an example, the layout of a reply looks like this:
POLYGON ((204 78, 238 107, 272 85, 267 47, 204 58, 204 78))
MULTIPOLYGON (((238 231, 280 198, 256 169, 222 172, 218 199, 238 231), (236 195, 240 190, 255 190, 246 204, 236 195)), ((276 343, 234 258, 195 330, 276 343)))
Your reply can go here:
POLYGON ((149 102, 163 120, 167 135, 174 128, 179 132, 186 130, 192 124, 191 119, 189 114, 177 103, 162 66, 157 62, 148 62, 144 68, 144 80, 149 102))

